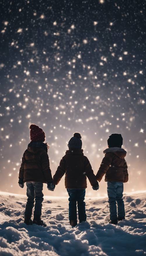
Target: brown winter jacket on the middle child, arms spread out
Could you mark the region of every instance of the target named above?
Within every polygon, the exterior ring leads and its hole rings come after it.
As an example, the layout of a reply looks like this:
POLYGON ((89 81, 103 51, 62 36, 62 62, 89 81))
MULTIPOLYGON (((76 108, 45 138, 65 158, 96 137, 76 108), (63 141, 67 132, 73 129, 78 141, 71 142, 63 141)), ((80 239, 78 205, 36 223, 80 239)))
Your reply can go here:
POLYGON ((65 174, 65 188, 87 188, 88 177, 91 185, 97 184, 97 179, 93 173, 91 164, 87 157, 84 156, 83 150, 67 150, 62 157, 55 175, 53 183, 57 185, 65 174))

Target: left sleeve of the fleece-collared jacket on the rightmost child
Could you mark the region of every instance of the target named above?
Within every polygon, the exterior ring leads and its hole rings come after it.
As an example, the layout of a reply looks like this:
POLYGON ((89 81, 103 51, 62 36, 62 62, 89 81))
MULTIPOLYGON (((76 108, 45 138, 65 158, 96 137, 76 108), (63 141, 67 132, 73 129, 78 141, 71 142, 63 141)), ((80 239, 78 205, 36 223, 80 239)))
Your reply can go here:
POLYGON ((105 173, 108 171, 110 164, 112 163, 112 154, 106 153, 105 157, 102 159, 99 170, 96 174, 98 181, 101 181, 105 173))

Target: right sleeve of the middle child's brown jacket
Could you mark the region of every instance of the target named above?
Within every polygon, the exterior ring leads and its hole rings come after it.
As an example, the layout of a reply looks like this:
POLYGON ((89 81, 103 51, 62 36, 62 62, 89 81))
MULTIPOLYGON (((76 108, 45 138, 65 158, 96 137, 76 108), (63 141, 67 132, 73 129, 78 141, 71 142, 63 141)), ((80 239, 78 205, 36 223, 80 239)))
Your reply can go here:
POLYGON ((96 184, 98 185, 96 176, 93 173, 92 166, 87 157, 85 158, 85 167, 84 168, 85 168, 86 176, 89 179, 91 186, 96 185, 96 184))

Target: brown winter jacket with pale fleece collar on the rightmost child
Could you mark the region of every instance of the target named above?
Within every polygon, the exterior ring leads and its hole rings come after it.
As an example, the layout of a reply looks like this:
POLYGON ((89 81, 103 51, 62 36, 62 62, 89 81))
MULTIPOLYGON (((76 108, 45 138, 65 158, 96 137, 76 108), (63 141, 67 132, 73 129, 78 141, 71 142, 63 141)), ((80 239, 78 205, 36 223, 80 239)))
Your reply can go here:
POLYGON ((105 157, 102 159, 100 168, 96 174, 98 181, 105 175, 105 181, 127 182, 128 171, 124 159, 126 151, 119 147, 110 147, 103 151, 105 157))

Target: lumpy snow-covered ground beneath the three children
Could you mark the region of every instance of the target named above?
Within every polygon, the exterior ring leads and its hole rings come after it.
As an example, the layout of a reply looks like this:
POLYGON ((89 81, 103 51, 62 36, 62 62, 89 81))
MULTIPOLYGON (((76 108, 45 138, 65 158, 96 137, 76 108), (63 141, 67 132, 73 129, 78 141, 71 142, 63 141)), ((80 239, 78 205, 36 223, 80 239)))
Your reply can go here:
POLYGON ((126 220, 108 224, 107 198, 86 199, 88 222, 71 228, 66 197, 45 197, 47 227, 26 226, 26 197, 0 192, 0 255, 146 255, 146 191, 124 195, 126 220))

